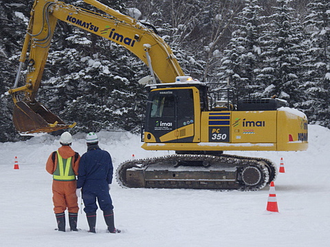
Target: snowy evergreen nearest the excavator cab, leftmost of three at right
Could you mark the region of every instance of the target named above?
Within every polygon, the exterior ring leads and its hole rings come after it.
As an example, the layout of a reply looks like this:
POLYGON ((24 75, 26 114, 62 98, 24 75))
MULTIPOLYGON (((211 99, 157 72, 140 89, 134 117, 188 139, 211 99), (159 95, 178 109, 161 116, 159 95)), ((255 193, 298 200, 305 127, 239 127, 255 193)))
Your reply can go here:
POLYGON ((221 60, 222 80, 229 80, 236 97, 253 97, 260 86, 257 75, 261 67, 261 11, 258 0, 245 0, 245 8, 238 14, 236 30, 221 60))

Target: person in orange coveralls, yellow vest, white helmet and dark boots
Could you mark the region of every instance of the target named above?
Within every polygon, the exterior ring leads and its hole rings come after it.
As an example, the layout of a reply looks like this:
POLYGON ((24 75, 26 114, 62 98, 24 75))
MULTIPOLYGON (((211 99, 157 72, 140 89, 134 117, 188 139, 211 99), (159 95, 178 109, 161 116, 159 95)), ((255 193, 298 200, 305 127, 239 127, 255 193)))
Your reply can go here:
POLYGON ((78 231, 78 197, 76 195, 76 176, 80 155, 74 152, 72 135, 64 132, 60 137, 61 148, 52 152, 46 163, 46 170, 53 175, 53 202, 58 231, 65 232, 65 210, 69 211, 71 231, 78 231))

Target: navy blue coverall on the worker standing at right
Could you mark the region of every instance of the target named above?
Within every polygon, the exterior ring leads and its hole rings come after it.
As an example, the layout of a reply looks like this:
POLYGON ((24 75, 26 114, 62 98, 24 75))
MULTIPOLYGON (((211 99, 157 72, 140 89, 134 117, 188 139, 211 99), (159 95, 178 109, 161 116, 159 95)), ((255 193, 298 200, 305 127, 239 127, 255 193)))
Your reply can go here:
POLYGON ((109 152, 91 145, 80 158, 77 188, 82 188, 85 213, 94 213, 98 205, 102 211, 113 209, 109 184, 112 183, 113 165, 109 152))

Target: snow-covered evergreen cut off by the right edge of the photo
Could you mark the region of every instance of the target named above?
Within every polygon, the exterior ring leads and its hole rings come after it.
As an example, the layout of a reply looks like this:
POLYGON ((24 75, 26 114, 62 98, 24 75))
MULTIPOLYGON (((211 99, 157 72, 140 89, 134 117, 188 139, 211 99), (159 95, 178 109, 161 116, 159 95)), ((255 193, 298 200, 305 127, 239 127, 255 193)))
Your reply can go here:
POLYGON ((298 107, 311 123, 330 128, 330 2, 315 0, 307 9, 305 83, 301 88, 307 92, 308 100, 298 107))

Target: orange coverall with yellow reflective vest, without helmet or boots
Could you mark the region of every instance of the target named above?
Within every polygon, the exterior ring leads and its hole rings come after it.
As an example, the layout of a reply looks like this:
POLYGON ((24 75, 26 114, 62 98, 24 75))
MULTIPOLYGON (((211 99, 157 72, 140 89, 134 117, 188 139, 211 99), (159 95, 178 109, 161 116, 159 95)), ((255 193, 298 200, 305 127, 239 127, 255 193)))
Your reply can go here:
POLYGON ((78 213, 78 198, 76 195, 76 176, 80 155, 69 145, 58 148, 56 154, 50 154, 46 163, 46 170, 53 175, 54 213, 78 213))

